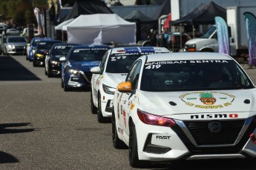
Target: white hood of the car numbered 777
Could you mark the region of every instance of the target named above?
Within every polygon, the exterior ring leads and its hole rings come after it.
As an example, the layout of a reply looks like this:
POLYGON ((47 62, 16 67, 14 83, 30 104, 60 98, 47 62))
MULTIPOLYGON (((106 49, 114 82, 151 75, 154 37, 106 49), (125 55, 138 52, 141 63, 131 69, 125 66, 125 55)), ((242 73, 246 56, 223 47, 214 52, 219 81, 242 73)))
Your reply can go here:
POLYGON ((116 88, 117 84, 125 81, 126 73, 105 73, 103 75, 103 84, 116 88))

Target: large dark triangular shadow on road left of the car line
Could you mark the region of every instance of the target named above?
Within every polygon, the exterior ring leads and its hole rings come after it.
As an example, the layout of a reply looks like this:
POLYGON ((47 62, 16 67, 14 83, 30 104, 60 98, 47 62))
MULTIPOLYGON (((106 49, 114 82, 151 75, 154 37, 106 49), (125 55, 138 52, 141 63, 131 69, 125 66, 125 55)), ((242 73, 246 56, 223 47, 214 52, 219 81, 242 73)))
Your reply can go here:
POLYGON ((0 57, 0 81, 41 81, 33 72, 11 57, 0 57))

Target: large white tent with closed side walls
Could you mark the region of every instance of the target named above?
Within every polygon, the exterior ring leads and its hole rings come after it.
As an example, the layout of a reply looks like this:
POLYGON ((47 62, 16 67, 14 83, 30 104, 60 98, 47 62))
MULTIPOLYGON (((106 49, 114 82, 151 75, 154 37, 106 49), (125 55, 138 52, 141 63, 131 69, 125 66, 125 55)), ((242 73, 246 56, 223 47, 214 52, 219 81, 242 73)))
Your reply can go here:
POLYGON ((80 15, 62 27, 76 44, 136 44, 136 24, 115 13, 80 15))

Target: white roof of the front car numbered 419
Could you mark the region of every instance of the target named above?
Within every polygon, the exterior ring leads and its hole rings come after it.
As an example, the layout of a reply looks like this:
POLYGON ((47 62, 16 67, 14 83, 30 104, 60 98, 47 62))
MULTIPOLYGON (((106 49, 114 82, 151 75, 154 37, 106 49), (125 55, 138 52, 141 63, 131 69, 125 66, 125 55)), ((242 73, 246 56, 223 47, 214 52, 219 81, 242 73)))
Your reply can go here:
POLYGON ((180 60, 234 60, 219 52, 170 52, 147 55, 147 62, 180 60))

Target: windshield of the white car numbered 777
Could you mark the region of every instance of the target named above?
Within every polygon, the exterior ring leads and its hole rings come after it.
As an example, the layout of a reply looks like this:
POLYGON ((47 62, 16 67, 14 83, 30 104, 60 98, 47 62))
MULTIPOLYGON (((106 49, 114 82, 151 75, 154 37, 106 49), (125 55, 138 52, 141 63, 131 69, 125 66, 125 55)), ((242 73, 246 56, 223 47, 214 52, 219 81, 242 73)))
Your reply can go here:
POLYGON ((105 72, 128 73, 134 61, 141 56, 140 53, 111 54, 107 61, 105 72))

